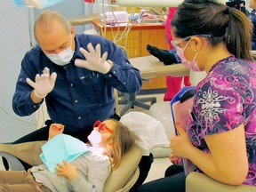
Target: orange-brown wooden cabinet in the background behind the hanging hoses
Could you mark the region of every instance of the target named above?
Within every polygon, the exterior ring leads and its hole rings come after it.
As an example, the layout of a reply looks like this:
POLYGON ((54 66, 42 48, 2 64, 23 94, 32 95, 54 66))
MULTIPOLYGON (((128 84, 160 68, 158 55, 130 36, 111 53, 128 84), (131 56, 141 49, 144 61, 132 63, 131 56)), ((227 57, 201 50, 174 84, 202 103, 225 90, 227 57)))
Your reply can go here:
MULTIPOLYGON (((99 32, 100 36, 105 36, 112 41, 119 39, 120 36, 124 36, 125 33, 124 26, 119 28, 116 26, 105 27, 99 19, 92 20, 92 24, 94 28, 99 32)), ((169 45, 165 39, 164 24, 160 23, 134 23, 128 33, 128 36, 117 41, 116 44, 123 45, 125 47, 129 58, 150 55, 146 49, 147 44, 164 50, 169 49, 169 45)), ((143 63, 141 63, 141 65, 143 65, 143 63)), ((149 90, 166 88, 165 79, 165 76, 152 78, 149 82, 143 82, 142 89, 149 90)))

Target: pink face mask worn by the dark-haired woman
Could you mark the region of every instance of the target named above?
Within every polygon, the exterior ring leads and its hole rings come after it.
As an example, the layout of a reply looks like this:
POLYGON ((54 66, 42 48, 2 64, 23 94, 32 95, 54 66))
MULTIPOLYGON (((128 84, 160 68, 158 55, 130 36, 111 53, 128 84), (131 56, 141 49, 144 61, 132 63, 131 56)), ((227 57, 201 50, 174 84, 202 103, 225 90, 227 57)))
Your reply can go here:
POLYGON ((196 55, 195 55, 195 57, 194 57, 194 59, 192 61, 191 60, 187 60, 185 55, 184 55, 184 51, 187 48, 187 46, 189 44, 189 41, 190 41, 190 39, 188 40, 188 43, 185 45, 185 47, 183 49, 180 48, 179 45, 175 44, 174 42, 172 42, 172 45, 175 47, 175 49, 177 51, 177 54, 180 57, 180 60, 181 60, 181 62, 182 62, 182 64, 184 66, 186 66, 187 68, 189 68, 189 69, 191 69, 193 71, 203 71, 200 68, 198 68, 198 65, 197 65, 197 62, 196 62, 197 52, 196 52, 196 55))

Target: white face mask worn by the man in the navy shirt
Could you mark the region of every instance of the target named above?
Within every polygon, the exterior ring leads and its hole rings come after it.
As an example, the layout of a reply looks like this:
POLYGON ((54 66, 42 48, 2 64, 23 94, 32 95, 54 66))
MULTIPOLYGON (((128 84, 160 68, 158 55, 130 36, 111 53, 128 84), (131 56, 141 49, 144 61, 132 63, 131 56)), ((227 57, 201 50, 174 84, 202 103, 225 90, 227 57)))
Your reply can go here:
MULTIPOLYGON (((71 43, 72 44, 72 43, 71 43)), ((71 44, 68 46, 67 49, 59 52, 58 54, 46 54, 45 55, 52 60, 56 65, 64 66, 67 65, 74 55, 74 51, 71 48, 71 44)))

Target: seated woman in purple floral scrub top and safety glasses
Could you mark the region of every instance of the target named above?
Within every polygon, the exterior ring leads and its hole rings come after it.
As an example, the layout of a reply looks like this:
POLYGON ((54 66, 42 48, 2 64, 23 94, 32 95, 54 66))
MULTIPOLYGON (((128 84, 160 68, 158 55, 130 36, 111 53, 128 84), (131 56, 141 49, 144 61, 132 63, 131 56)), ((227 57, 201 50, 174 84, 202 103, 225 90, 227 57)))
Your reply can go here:
POLYGON ((180 157, 214 180, 256 186, 256 62, 250 20, 217 0, 185 0, 171 31, 182 64, 207 76, 196 85, 188 126, 175 122, 179 136, 171 137, 172 165, 165 177, 136 191, 186 191, 180 157))

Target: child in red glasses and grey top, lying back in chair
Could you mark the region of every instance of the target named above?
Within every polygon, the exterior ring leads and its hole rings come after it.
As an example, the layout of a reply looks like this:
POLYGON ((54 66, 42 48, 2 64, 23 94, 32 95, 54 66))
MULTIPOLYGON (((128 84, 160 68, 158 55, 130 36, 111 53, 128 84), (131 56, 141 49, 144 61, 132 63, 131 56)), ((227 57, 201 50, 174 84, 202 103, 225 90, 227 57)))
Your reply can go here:
MULTIPOLYGON (((63 160, 62 164, 56 164, 53 173, 45 164, 33 166, 28 172, 0 171, 0 191, 102 191, 111 168, 118 167, 122 156, 135 145, 137 138, 115 119, 97 121, 93 127, 88 136, 92 144, 90 152, 76 157, 71 163, 63 160)), ((63 130, 63 124, 51 124, 49 140, 63 130)))

